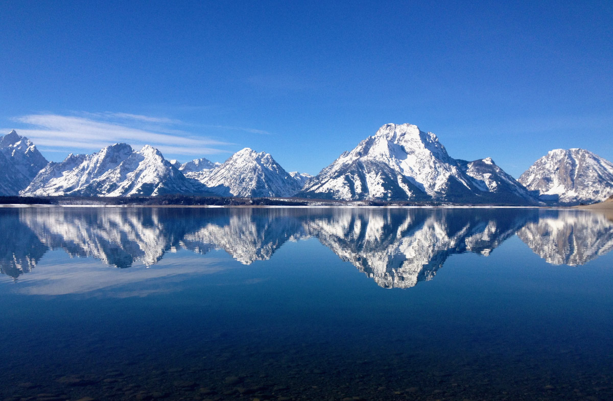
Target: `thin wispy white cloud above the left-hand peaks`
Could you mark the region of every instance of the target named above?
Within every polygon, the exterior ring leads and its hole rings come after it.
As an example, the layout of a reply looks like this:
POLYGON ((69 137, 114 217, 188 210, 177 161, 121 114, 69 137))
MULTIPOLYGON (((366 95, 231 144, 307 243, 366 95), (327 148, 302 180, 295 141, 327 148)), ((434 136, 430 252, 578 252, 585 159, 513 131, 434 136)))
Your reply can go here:
POLYGON ((45 151, 91 151, 126 142, 133 147, 148 144, 172 155, 215 155, 229 153, 218 147, 232 145, 177 129, 178 120, 129 113, 31 114, 13 120, 26 124, 18 133, 45 151))

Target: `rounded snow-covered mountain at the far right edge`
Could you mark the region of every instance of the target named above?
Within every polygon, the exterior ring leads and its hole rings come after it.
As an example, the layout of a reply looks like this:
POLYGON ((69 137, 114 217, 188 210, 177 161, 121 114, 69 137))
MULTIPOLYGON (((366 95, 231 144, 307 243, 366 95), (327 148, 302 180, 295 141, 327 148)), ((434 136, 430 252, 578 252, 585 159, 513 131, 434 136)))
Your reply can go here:
POLYGON ((600 202, 613 194, 613 163, 584 149, 555 149, 530 166, 519 182, 546 201, 600 202))

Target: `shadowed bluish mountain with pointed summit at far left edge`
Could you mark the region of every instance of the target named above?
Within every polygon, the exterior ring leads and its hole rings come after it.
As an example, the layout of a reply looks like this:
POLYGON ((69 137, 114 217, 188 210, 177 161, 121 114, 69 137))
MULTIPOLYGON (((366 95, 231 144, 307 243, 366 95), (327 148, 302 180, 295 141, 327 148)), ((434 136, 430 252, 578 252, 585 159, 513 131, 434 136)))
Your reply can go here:
POLYGON ((0 196, 17 195, 26 188, 40 169, 45 159, 34 143, 19 136, 13 129, 0 138, 0 196))

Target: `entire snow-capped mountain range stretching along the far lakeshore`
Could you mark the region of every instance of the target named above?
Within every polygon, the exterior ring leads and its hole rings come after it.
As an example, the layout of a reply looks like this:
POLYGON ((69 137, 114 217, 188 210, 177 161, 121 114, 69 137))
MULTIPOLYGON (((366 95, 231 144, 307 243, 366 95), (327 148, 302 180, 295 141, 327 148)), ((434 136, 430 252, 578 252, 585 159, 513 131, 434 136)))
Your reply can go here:
POLYGON ((303 197, 341 201, 543 205, 591 203, 613 194, 613 164, 582 149, 552 150, 519 180, 492 158, 449 156, 432 132, 386 124, 312 177, 244 148, 223 163, 168 161, 155 148, 116 143, 48 162, 26 137, 0 139, 0 196, 303 197))

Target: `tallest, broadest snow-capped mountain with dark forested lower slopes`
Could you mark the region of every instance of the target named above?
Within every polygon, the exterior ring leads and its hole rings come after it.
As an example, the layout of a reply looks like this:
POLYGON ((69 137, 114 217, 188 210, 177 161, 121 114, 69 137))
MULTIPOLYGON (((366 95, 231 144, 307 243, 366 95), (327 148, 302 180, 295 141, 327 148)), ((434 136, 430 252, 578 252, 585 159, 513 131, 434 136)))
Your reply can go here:
MULTIPOLYGON (((323 169, 299 196, 519 202, 517 193, 507 194, 503 189, 521 192, 521 185, 503 174, 491 159, 468 164, 451 158, 432 132, 421 131, 411 124, 386 124, 323 169), (484 172, 484 164, 491 166, 489 172, 484 172)), ((530 202, 534 201, 530 199, 530 202)))

